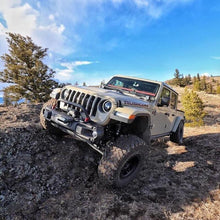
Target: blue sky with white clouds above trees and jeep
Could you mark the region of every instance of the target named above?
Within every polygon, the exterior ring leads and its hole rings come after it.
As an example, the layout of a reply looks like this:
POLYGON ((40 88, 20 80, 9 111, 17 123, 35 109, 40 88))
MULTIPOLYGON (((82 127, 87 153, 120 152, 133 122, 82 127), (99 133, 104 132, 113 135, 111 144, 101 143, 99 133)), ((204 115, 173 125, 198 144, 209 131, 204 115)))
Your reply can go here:
POLYGON ((5 32, 49 48, 45 62, 60 82, 165 81, 176 68, 220 75, 218 0, 1 0, 0 55, 5 32))

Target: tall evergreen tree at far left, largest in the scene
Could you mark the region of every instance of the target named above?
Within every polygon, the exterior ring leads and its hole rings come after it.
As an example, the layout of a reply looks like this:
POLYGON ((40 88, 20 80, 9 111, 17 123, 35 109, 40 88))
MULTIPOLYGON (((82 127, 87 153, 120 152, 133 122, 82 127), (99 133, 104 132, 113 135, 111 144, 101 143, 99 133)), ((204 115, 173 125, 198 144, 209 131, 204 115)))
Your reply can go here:
POLYGON ((13 83, 4 92, 13 101, 25 98, 31 102, 44 102, 58 86, 52 78, 54 71, 43 63, 47 48, 34 44, 30 37, 8 33, 9 53, 1 56, 5 69, 0 82, 13 83))

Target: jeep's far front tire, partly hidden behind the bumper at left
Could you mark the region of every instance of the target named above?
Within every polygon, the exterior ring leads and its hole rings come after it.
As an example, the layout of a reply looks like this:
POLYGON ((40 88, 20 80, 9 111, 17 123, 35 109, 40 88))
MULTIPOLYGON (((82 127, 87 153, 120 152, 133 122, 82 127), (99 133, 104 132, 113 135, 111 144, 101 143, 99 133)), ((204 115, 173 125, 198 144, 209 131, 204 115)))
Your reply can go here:
POLYGON ((45 130, 48 130, 51 134, 54 134, 56 136, 62 136, 64 133, 59 129, 51 125, 49 121, 47 121, 44 117, 44 111, 47 106, 52 107, 53 105, 56 105, 57 100, 56 99, 50 99, 48 100, 42 107, 40 112, 40 124, 45 130))

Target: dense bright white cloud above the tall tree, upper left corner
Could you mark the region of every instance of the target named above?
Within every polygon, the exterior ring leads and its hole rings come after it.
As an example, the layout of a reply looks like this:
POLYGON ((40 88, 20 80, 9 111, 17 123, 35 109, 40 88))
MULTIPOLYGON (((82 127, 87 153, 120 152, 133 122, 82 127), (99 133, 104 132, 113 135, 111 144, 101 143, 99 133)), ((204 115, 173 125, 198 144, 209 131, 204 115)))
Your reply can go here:
MULTIPOLYGON (((65 26, 57 24, 52 14, 42 17, 39 4, 38 8, 39 10, 34 9, 30 4, 22 4, 21 1, 1 0, 0 13, 6 21, 6 27, 0 23, 0 36, 6 37, 6 32, 19 33, 30 36, 34 42, 53 52, 63 55, 69 53, 71 49, 65 47, 65 26)), ((1 42, 1 48, 5 44, 5 40, 1 42)), ((0 54, 4 52, 0 49, 0 54)))

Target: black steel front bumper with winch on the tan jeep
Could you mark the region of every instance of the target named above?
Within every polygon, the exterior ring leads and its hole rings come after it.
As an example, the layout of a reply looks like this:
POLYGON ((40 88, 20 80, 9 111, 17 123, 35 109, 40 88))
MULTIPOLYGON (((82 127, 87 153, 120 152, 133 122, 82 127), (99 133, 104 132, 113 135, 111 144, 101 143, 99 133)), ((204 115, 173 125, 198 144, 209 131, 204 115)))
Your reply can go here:
POLYGON ((50 107, 45 108, 44 117, 54 127, 85 142, 94 143, 104 135, 102 126, 92 121, 84 122, 78 118, 73 118, 65 112, 60 112, 50 107))

